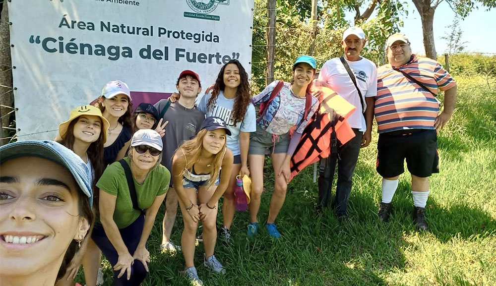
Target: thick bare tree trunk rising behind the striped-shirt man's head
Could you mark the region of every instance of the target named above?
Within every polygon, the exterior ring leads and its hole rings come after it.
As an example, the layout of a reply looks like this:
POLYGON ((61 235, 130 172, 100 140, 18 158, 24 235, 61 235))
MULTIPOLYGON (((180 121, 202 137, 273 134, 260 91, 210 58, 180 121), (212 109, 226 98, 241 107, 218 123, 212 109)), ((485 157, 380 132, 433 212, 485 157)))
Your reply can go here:
POLYGON ((424 49, 426 56, 432 59, 437 59, 434 46, 434 11, 435 7, 431 7, 430 0, 413 0, 417 11, 419 11, 422 20, 422 33, 424 36, 424 49))

